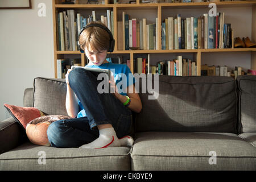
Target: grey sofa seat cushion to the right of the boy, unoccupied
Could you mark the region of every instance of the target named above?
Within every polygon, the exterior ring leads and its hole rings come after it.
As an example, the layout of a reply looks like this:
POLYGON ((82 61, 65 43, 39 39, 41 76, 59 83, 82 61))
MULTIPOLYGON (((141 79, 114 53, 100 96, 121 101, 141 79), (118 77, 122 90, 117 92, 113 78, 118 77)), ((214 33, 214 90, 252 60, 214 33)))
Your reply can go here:
POLYGON ((131 169, 256 170, 256 148, 231 133, 137 133, 131 169))

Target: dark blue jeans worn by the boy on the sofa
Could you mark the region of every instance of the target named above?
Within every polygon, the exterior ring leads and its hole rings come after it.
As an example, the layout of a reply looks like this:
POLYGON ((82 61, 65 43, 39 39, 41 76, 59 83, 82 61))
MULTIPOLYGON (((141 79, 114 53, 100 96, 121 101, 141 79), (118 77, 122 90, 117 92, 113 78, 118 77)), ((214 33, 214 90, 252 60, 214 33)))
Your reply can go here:
MULTIPOLYGON (((111 124, 118 138, 127 135, 131 110, 112 93, 98 93, 101 80, 90 71, 76 68, 69 73, 69 85, 84 106, 86 117, 64 119, 49 125, 47 136, 53 147, 80 147, 98 138, 97 125, 111 124)), ((78 104, 78 103, 77 103, 78 104)))

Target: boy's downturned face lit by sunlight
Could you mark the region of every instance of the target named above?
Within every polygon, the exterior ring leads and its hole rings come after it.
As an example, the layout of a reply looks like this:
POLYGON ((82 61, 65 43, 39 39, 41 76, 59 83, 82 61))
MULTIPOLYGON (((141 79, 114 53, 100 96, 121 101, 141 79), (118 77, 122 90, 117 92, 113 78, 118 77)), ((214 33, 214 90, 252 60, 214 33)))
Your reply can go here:
POLYGON ((89 48, 85 48, 85 54, 88 57, 89 61, 94 64, 94 65, 101 65, 102 63, 105 63, 105 59, 106 59, 106 55, 107 55, 107 51, 92 51, 89 48))

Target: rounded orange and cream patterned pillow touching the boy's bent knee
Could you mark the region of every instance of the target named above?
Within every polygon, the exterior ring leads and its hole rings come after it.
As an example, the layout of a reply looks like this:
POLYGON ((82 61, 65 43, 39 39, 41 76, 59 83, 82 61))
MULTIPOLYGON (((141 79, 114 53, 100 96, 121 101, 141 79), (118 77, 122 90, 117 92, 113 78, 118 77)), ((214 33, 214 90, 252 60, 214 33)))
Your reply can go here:
POLYGON ((27 124, 26 133, 31 143, 41 146, 51 146, 47 138, 47 129, 52 122, 61 119, 71 119, 65 115, 45 115, 35 118, 27 124))

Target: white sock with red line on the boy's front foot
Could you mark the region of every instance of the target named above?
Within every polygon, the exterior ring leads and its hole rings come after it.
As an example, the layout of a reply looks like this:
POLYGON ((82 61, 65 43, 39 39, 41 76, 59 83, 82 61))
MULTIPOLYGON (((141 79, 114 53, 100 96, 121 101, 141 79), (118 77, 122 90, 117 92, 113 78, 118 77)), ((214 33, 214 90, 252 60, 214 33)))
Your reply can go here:
POLYGON ((113 127, 99 130, 100 136, 91 143, 84 144, 79 148, 106 148, 120 147, 121 144, 113 127))

